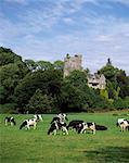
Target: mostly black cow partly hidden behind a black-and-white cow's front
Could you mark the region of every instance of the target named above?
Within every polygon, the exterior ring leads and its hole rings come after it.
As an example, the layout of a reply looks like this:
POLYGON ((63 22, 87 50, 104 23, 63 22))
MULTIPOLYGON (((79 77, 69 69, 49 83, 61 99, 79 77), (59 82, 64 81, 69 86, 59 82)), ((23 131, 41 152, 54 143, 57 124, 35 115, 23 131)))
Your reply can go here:
POLYGON ((72 129, 75 129, 76 131, 79 129, 79 124, 83 123, 83 121, 81 120, 74 120, 74 121, 70 121, 68 126, 67 126, 67 129, 72 128, 72 129))

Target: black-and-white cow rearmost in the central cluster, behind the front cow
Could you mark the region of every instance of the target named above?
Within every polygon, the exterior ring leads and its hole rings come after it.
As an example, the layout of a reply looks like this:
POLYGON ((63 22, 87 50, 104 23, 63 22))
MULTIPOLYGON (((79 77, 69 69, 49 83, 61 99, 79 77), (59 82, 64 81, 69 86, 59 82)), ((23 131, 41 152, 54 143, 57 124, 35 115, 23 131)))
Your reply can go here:
POLYGON ((65 113, 60 113, 60 114, 57 114, 56 116, 53 117, 51 124, 52 124, 54 121, 57 121, 57 122, 65 122, 65 121, 68 121, 67 114, 65 114, 65 113))

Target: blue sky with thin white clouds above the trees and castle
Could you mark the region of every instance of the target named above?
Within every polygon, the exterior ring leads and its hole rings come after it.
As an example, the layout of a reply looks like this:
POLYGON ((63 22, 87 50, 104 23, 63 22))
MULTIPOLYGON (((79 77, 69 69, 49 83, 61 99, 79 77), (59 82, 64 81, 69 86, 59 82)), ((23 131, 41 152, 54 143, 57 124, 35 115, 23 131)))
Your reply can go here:
POLYGON ((0 46, 23 60, 82 54, 91 73, 111 58, 129 75, 129 0, 0 0, 0 46))

